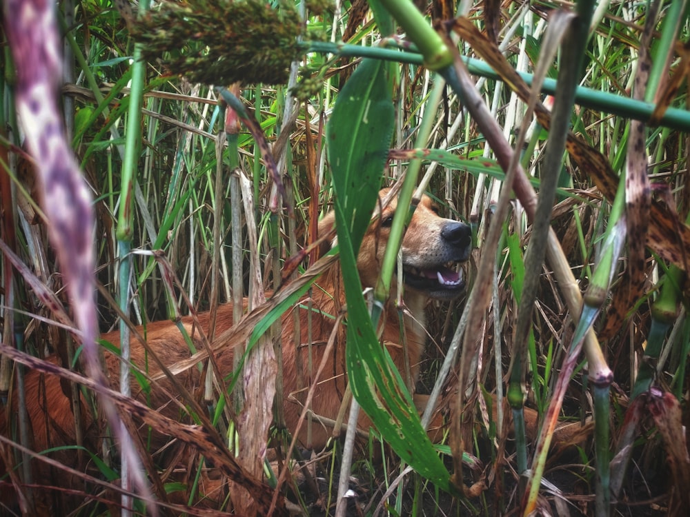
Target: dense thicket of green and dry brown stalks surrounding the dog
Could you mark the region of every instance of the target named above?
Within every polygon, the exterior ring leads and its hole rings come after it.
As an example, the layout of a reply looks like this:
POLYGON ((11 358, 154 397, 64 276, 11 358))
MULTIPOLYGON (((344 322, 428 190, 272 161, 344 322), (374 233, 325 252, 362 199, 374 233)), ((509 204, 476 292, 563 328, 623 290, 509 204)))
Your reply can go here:
MULTIPOLYGON (((277 460, 260 472, 259 456, 238 444, 261 451, 269 437, 237 437, 233 420, 244 397, 273 386, 261 376, 253 385, 238 364, 225 392, 208 383, 194 394, 207 414, 188 405, 179 428, 137 414, 178 438, 190 421, 211 427, 233 452, 209 457, 206 435, 195 435, 199 448, 184 456, 182 474, 179 463, 157 464, 157 452, 146 452, 154 493, 187 503, 189 514, 261 513, 278 485, 286 499, 274 498, 277 514, 286 505, 313 515, 336 506, 351 515, 690 512, 687 2, 148 3, 57 5, 61 116, 93 198, 95 221, 80 222, 95 235, 101 332, 123 317, 179 321, 275 291, 237 327, 252 361, 273 346, 263 334, 315 281, 315 221, 335 208, 347 361, 366 365, 351 369, 350 382, 386 444, 372 433, 352 461, 348 434, 286 460, 289 437, 273 429, 277 460), (433 415, 420 422, 401 376, 380 347, 367 346, 397 250, 366 300, 351 258, 380 185, 400 187, 405 210, 392 232, 403 231, 422 192, 473 227, 466 297, 427 308, 416 389, 437 398, 429 407, 448 423, 441 445, 422 429, 433 415), (199 497, 204 455, 220 465, 217 485, 235 465, 250 473, 233 478, 249 503, 231 500, 233 488, 229 498, 199 497), (348 489, 355 496, 342 499, 348 489)), ((21 408, 25 372, 10 356, 52 372, 19 352, 57 353, 81 372, 75 356, 88 349, 81 305, 64 281, 75 278, 66 257, 81 263, 79 250, 55 240, 57 205, 41 209, 51 199, 41 190, 48 160, 23 142, 32 128, 15 110, 22 70, 40 64, 17 59, 8 28, 16 5, 3 13, 0 389, 21 408)), ((137 379, 146 392, 150 380, 137 379)), ((104 422, 103 399, 91 389, 81 396, 104 422)), ((135 414, 127 398, 121 416, 135 414)), ((17 419, 8 404, 4 421, 17 419)), ((76 436, 83 425, 75 421, 76 436)), ((2 494, 29 483, 29 456, 17 444, 30 445, 30 431, 12 429, 20 430, 4 433, 0 457, 14 474, 0 481, 2 494)), ((88 449, 59 438, 57 452, 68 454, 56 458, 107 482, 72 487, 70 496, 86 501, 82 514, 129 504, 119 490, 128 456, 112 439, 88 449)), ((52 467, 55 485, 60 468, 52 467)), ((48 511, 58 494, 34 487, 19 506, 48 511)), ((19 511, 11 504, 5 509, 19 511)))

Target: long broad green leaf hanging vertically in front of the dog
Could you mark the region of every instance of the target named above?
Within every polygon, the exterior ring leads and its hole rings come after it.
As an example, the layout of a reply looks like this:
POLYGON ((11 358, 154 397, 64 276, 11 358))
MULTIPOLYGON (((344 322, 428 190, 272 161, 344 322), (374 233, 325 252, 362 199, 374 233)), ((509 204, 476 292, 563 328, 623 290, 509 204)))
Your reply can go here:
POLYGON ((357 272, 357 250, 376 203, 393 130, 388 68, 364 60, 340 92, 326 129, 348 307, 348 379, 357 402, 398 456, 449 490, 449 473, 426 436, 400 372, 378 341, 357 272))

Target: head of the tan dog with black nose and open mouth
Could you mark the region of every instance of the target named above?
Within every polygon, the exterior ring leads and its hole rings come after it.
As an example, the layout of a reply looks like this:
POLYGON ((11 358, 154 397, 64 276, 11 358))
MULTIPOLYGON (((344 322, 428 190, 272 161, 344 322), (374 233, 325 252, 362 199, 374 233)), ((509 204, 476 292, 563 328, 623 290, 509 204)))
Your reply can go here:
MULTIPOLYGON (((389 189, 383 189, 383 199, 389 189)), ((393 223, 397 200, 382 210, 362 240, 357 256, 357 269, 363 287, 375 287, 381 270, 388 234, 393 223)), ((333 225, 333 213, 319 223, 319 234, 333 225)), ((417 205, 402 241, 403 281, 411 289, 431 298, 450 300, 464 291, 462 270, 451 269, 455 263, 466 261, 471 251, 470 227, 464 223, 444 219, 432 199, 423 196, 417 205)))

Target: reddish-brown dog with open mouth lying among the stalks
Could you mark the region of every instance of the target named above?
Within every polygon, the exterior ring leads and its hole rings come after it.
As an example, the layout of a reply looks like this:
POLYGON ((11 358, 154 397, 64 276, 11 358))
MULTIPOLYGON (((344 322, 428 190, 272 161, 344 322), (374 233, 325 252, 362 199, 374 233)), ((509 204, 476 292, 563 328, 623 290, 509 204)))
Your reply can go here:
MULTIPOLYGON (((382 194, 386 194, 383 190, 382 194)), ((386 248, 390 222, 395 211, 395 201, 384 207, 380 219, 368 228, 364 236, 361 250, 357 259, 357 267, 362 278, 363 287, 374 287, 380 270, 380 263, 386 248)), ((329 214, 319 224, 319 231, 329 230, 333 225, 333 215, 329 214)), ((454 298, 464 290, 462 274, 458 274, 446 267, 448 263, 465 261, 470 252, 471 233, 464 223, 440 217, 427 196, 421 200, 402 243, 402 263, 404 267, 404 337, 401 336, 400 312, 393 302, 386 305, 382 322, 381 339, 386 343, 388 352, 401 372, 411 372, 412 381, 417 378, 418 365, 422 358, 426 332, 424 330, 424 308, 429 298, 454 298), (404 352, 404 347, 406 351, 404 352), (408 365, 404 358, 408 358, 408 365)), ((302 404, 306 396, 306 389, 312 384, 313 378, 308 372, 308 351, 311 349, 314 371, 324 356, 324 349, 328 339, 334 331, 334 316, 344 307, 344 287, 339 272, 339 265, 335 263, 327 270, 313 287, 311 299, 302 300, 294 310, 299 312, 299 336, 295 336, 295 319, 292 312, 287 312, 282 318, 282 371, 284 375, 284 416, 290 432, 295 432, 302 404), (307 346, 311 337, 311 347, 307 346), (296 354, 302 358, 298 379, 298 365, 296 354), (301 382, 300 382, 301 381, 301 382)), ((393 297, 392 297, 393 298, 393 297)), ((199 314, 198 321, 201 328, 207 332, 210 321, 208 313, 199 314)), ((183 318, 187 331, 194 336, 193 320, 183 318)), ((221 305, 217 311, 215 335, 221 334, 233 324, 232 305, 221 305)), ((314 414, 325 416, 331 420, 336 418, 342 396, 345 392, 346 375, 344 369, 344 347, 346 331, 344 326, 335 328, 335 346, 333 354, 326 358, 326 367, 322 378, 319 379, 315 396, 311 403, 314 414)), ((198 336, 198 332, 197 332, 198 336)), ((106 341, 117 345, 119 333, 113 332, 102 336, 106 341)), ((150 323, 146 327, 146 341, 161 361, 166 365, 174 365, 178 361, 189 358, 190 352, 179 330, 170 321, 150 323)), ((198 341, 198 340, 195 340, 198 341)), ((201 342, 197 342, 201 347, 201 342)), ((135 339, 131 341, 132 363, 142 370, 148 365, 148 375, 155 377, 159 369, 155 361, 147 360, 144 347, 135 339)), ((222 374, 233 372, 233 348, 230 347, 216 357, 217 365, 222 374)), ((119 359, 106 354, 108 376, 117 386, 119 359)), ((200 374, 196 367, 187 369, 179 380, 187 389, 199 388, 200 374)), ((70 409, 70 401, 63 394, 59 378, 45 376, 37 372, 26 375, 26 400, 33 428, 34 449, 43 450, 56 445, 75 443, 74 417, 70 409), (44 388, 43 388, 44 387, 44 388), (48 418, 46 418, 48 415, 48 418)), ((153 386, 150 394, 141 392, 141 387, 132 381, 132 396, 144 401, 150 407, 172 418, 179 418, 180 410, 170 403, 168 393, 171 385, 169 381, 161 381, 166 390, 153 386), (167 392, 167 393, 166 393, 167 392)), ((16 404, 15 404, 16 406, 16 404)), ((87 412, 84 412, 87 414, 87 412)), ((366 420, 360 420, 360 425, 366 425, 366 420)), ((304 426, 303 426, 304 427, 304 426)), ((7 426, 3 425, 3 433, 7 426)), ((333 429, 320 423, 313 425, 312 443, 306 444, 305 429, 299 431, 299 438, 304 445, 322 447, 333 429)), ((88 438, 88 437, 87 437, 88 438)), ((163 438, 163 437, 161 437, 163 438)), ((154 445, 161 445, 156 443, 154 445)))

